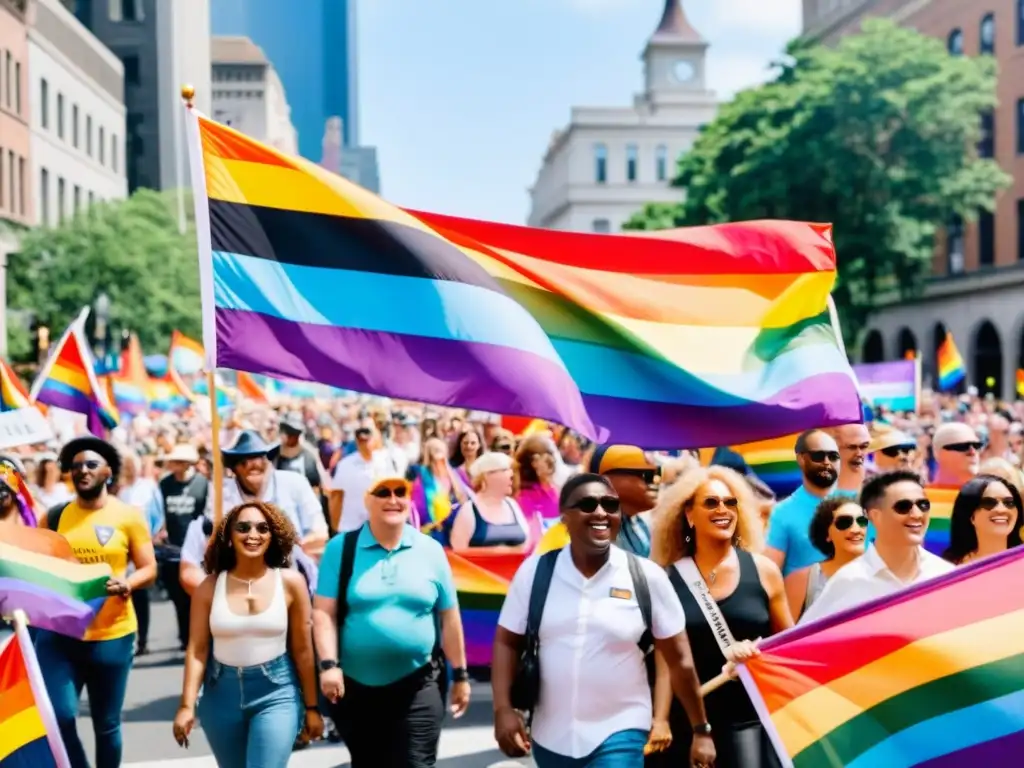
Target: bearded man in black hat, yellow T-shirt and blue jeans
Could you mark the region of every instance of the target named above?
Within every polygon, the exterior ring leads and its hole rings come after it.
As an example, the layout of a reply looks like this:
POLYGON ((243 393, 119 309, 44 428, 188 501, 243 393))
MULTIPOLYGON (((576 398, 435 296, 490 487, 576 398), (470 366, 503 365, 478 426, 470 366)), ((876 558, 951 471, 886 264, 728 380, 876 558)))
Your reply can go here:
POLYGON ((81 640, 39 632, 39 662, 73 768, 89 765, 75 725, 83 685, 95 734, 94 764, 116 768, 121 764, 121 711, 138 630, 131 593, 156 581, 157 558, 142 515, 111 493, 121 471, 114 445, 91 435, 78 437, 63 446, 58 463, 71 472, 75 499, 49 511, 47 527, 68 540, 79 561, 106 563, 113 575, 106 583, 108 598, 81 640), (129 563, 135 566, 131 574, 129 563))

